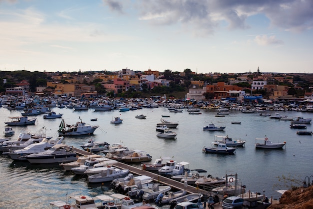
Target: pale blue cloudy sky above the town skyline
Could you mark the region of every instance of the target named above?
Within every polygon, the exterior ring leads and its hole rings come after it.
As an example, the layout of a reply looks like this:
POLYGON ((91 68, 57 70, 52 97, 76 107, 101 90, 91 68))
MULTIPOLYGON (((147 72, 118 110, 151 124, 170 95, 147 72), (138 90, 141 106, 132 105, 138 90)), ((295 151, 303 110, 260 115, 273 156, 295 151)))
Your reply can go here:
POLYGON ((312 0, 0 0, 0 71, 313 73, 312 0))

